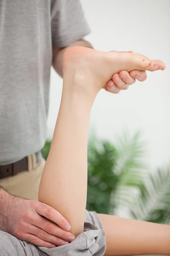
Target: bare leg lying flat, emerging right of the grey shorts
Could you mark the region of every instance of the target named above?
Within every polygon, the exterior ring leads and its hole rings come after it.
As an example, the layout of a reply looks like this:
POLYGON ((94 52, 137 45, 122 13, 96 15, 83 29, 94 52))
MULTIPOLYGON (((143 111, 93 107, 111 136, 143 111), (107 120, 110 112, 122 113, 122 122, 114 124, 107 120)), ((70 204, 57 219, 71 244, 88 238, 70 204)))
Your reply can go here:
POLYGON ((170 226, 99 214, 106 234, 105 256, 170 254, 170 226))

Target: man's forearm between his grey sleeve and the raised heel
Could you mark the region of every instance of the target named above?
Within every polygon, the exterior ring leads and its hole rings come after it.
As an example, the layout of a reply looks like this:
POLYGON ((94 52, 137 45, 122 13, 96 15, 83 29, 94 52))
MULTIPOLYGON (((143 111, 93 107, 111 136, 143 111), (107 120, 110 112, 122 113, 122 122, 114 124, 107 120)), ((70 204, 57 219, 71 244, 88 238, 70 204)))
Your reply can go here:
MULTIPOLYGON (((93 48, 92 45, 88 41, 85 41, 85 40, 76 41, 75 43, 71 44, 68 47, 75 47, 75 46, 93 48)), ((62 57, 63 57, 65 50, 68 47, 65 47, 62 49, 59 49, 57 47, 53 48, 53 67, 56 70, 56 72, 59 74, 59 76, 61 76, 61 77, 62 77, 62 57)))

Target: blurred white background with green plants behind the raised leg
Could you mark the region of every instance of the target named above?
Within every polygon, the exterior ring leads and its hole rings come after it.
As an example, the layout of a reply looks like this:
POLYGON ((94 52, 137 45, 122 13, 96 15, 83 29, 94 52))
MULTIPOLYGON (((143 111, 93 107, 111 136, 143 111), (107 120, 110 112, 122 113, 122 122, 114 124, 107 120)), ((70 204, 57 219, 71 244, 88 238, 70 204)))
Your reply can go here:
MULTIPOLYGON (((147 73, 127 91, 101 90, 91 113, 87 209, 170 223, 170 0, 82 0, 91 26, 87 40, 102 51, 161 59, 164 71, 147 73)), ((51 70, 50 147, 62 93, 51 70)))

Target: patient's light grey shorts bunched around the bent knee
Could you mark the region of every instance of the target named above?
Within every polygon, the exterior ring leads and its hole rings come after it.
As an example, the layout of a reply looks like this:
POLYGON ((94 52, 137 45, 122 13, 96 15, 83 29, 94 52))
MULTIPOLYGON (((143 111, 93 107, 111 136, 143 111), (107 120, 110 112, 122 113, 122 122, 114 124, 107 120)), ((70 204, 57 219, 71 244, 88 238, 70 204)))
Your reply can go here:
POLYGON ((105 233, 96 212, 85 212, 85 226, 70 244, 55 248, 38 247, 0 230, 0 256, 103 256, 105 233))

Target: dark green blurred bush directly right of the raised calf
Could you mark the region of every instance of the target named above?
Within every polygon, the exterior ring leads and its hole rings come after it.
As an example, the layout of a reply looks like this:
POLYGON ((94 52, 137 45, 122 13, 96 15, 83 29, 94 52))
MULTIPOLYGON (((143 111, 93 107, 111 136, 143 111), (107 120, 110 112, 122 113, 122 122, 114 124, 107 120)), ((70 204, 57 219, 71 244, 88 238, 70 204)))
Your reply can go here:
POLYGON ((88 194, 86 208, 100 213, 111 212, 111 195, 116 190, 119 175, 116 148, 108 141, 91 138, 88 144, 88 194))

